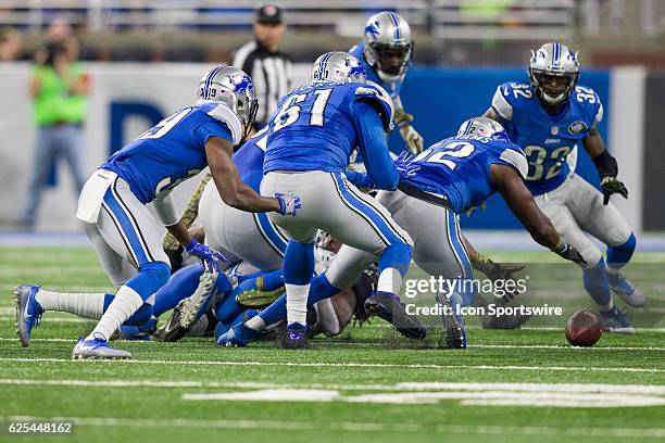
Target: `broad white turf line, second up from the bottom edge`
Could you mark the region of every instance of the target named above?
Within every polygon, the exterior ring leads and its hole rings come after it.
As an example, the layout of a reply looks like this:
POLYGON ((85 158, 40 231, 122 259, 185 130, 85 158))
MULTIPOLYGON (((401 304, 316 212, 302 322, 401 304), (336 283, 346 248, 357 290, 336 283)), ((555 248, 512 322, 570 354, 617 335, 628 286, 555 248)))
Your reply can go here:
POLYGON ((0 379, 9 385, 57 385, 87 388, 243 388, 243 389, 309 389, 339 391, 503 391, 503 392, 569 392, 606 394, 665 395, 660 384, 604 384, 604 383, 469 383, 469 382, 403 382, 397 384, 278 384, 266 382, 218 381, 155 381, 155 380, 60 380, 60 379, 0 379))

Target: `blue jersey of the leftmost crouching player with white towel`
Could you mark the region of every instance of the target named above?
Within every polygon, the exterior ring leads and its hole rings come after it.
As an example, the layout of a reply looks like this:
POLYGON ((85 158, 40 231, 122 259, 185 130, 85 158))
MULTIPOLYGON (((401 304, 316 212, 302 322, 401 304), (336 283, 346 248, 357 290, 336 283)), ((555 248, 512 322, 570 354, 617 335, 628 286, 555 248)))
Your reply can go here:
POLYGON ((242 130, 226 105, 202 102, 185 107, 140 135, 101 165, 125 179, 146 204, 208 166, 205 142, 219 137, 236 144, 242 130))

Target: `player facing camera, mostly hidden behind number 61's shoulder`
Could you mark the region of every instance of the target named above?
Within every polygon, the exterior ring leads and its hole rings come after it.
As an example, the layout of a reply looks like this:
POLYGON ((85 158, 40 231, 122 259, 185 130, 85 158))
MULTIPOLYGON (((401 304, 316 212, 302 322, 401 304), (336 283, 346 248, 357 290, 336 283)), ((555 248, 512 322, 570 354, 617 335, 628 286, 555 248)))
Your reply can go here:
MULTIPOLYGON (((349 50, 361 61, 368 81, 381 86, 392 99, 393 121, 412 153, 423 151, 423 137, 411 125, 413 115, 404 111, 400 90, 413 55, 413 38, 409 23, 394 12, 382 11, 365 23, 363 41, 349 50)), ((397 152, 399 154, 399 152, 397 152)))

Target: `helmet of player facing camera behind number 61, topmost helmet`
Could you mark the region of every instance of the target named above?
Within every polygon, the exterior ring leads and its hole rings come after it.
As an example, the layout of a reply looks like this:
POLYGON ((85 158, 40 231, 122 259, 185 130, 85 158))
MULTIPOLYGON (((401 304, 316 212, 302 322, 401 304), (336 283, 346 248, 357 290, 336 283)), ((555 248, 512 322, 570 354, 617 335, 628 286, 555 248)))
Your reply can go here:
POLYGON ((363 34, 365 60, 384 81, 402 76, 413 54, 409 23, 394 12, 374 14, 365 23, 363 34))

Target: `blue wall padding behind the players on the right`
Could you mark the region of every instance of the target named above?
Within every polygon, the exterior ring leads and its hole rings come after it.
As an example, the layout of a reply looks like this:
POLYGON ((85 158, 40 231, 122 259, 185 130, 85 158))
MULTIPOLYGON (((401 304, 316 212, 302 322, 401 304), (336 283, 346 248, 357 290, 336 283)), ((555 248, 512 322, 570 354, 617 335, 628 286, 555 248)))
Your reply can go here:
MULTIPOLYGON (((462 122, 482 114, 491 103, 492 96, 505 81, 528 81, 524 68, 498 68, 492 66, 473 68, 413 67, 402 88, 402 101, 407 112, 415 115, 414 127, 425 137, 426 145, 454 135, 462 122)), ((607 110, 610 110, 608 71, 584 71, 580 85, 593 88, 601 98, 605 118, 600 125, 607 140, 607 110)), ((402 140, 396 130, 390 138, 392 147, 402 140)), ((598 174, 593 163, 584 152, 578 155, 577 173, 597 185, 598 174)), ((510 213, 499 195, 487 202, 487 211, 476 212, 472 217, 462 216, 462 225, 473 229, 519 229, 519 221, 510 213)))

